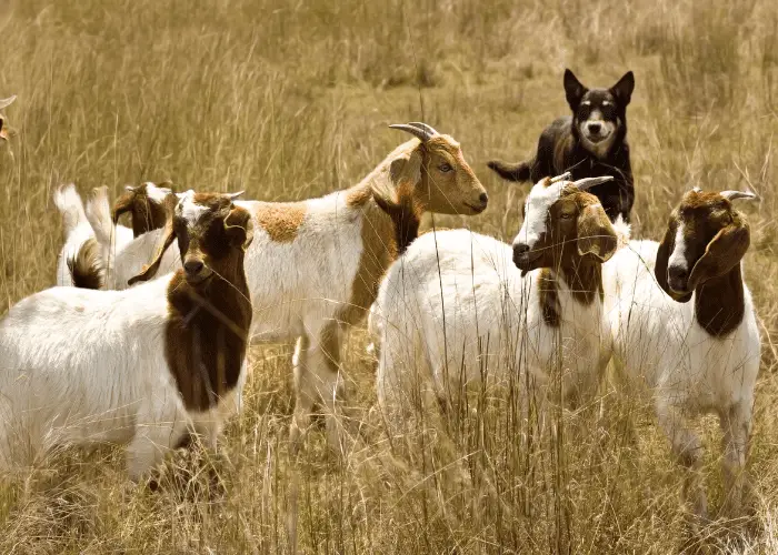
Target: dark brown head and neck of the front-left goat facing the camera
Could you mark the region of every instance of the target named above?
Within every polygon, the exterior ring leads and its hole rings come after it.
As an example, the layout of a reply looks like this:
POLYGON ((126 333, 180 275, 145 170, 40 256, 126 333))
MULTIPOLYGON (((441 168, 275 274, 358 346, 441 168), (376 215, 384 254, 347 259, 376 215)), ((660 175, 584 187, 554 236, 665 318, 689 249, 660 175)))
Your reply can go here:
POLYGON ((168 286, 166 359, 187 410, 205 411, 232 391, 241 375, 251 301, 243 258, 251 244, 251 215, 232 201, 241 193, 187 191, 166 199, 169 219, 153 262, 130 283, 151 279, 178 240, 183 269, 168 286), (210 341, 203 341, 208 337, 210 341), (202 369, 208 380, 202 379, 202 369))

